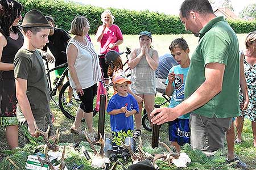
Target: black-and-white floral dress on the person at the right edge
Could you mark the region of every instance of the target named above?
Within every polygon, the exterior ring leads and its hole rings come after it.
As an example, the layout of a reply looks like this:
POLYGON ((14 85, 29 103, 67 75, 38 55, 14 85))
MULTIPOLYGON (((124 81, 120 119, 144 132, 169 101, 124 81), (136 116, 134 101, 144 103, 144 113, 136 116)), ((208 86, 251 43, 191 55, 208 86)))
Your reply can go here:
MULTIPOLYGON (((250 65, 243 58, 243 66, 245 70, 245 79, 248 87, 249 105, 248 108, 243 111, 243 116, 249 118, 250 121, 256 122, 256 65, 250 65)), ((240 103, 243 101, 243 95, 240 89, 240 103)), ((240 116, 242 111, 240 110, 240 116)))

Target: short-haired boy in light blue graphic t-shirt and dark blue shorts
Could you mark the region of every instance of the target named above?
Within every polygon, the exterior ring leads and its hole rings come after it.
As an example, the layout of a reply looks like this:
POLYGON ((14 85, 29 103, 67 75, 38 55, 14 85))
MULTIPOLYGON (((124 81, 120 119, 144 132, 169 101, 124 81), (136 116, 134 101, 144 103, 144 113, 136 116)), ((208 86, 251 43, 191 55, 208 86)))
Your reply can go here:
MULTIPOLYGON (((169 46, 172 56, 179 63, 173 66, 166 79, 166 94, 172 95, 169 107, 174 108, 184 100, 185 80, 187 78, 190 59, 188 57, 189 48, 187 42, 181 37, 175 39, 169 46)), ((184 114, 169 124, 169 141, 180 151, 180 146, 190 143, 189 114, 184 114)))

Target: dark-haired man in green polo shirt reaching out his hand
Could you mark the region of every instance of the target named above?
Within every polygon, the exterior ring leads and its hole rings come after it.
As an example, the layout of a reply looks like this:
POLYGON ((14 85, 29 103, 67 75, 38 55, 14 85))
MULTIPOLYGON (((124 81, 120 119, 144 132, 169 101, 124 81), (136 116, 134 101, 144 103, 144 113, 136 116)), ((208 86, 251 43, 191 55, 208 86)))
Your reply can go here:
POLYGON ((199 36, 185 83, 185 100, 175 108, 151 112, 153 124, 191 113, 191 145, 205 152, 224 147, 225 132, 238 116, 239 54, 236 33, 207 0, 185 0, 180 7, 185 28, 199 36))

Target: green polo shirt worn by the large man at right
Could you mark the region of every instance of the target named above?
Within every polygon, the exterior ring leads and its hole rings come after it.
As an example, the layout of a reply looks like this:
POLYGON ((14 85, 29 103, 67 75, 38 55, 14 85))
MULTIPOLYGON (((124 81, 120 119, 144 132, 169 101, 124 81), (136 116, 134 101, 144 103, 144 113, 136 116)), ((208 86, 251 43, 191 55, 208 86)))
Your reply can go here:
POLYGON ((205 81, 207 63, 222 63, 226 66, 222 91, 193 113, 205 117, 237 117, 240 58, 236 33, 223 16, 219 16, 201 29, 199 37, 199 45, 191 57, 185 82, 185 98, 191 96, 205 81))

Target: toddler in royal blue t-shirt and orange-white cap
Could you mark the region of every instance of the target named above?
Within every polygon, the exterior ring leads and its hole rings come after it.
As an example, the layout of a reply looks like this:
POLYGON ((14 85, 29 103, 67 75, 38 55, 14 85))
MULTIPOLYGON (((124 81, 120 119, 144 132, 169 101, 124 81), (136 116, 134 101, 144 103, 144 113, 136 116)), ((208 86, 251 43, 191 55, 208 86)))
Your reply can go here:
POLYGON ((121 145, 126 137, 133 137, 133 114, 139 112, 136 99, 128 93, 131 81, 123 73, 115 75, 113 84, 117 94, 109 100, 107 112, 110 114, 112 142, 121 145))

